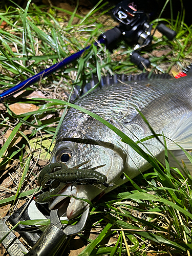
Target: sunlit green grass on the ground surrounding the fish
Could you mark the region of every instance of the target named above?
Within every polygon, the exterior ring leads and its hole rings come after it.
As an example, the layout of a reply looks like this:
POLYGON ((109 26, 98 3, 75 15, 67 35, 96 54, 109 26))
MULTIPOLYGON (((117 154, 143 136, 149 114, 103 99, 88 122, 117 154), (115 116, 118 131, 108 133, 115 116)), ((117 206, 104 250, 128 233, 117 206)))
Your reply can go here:
MULTIPOLYGON (((58 8, 29 4, 25 10, 19 7, 0 10, 0 26, 3 21, 7 23, 0 29, 2 90, 11 88, 92 44, 102 32, 115 26, 109 16, 105 16, 107 10, 103 11, 100 7, 86 16, 68 11, 70 18, 60 18, 57 16, 58 8), (74 17, 79 19, 78 24, 73 23, 74 17)), ((172 52, 161 57, 150 54, 153 72, 168 72, 172 66, 181 68, 191 62, 192 27, 184 24, 183 13, 178 15, 177 20, 159 17, 153 22, 156 26, 158 21, 164 20, 178 33, 174 41, 168 41, 165 37, 154 38, 151 51, 164 50, 169 46, 172 52)), ((67 110, 65 105, 70 105, 61 101, 67 100, 65 93, 69 95, 75 84, 86 83, 92 74, 100 77, 106 73, 138 72, 129 59, 131 51, 132 46, 127 46, 124 42, 113 53, 103 46, 98 49, 92 47, 65 69, 27 89, 28 93, 34 90, 43 92, 47 101, 17 97, 4 104, 0 117, 3 138, 0 172, 2 181, 8 177, 12 177, 12 181, 3 185, 5 189, 2 190, 4 194, 0 201, 1 214, 7 211, 7 205, 9 212, 12 212, 37 188, 36 176, 49 160, 51 141, 54 140, 63 118, 61 114, 67 110), (10 108, 15 102, 33 103, 39 109, 16 115, 10 108), (6 140, 7 131, 12 132, 9 132, 6 140), (15 144, 16 136, 19 140, 15 144), (45 162, 42 163, 42 160, 45 162)), ((96 117, 94 114, 90 115, 96 117)), ((101 118, 96 118, 110 126, 101 118)), ((173 176, 168 162, 166 169, 160 168, 154 158, 140 150, 139 144, 133 143, 118 129, 116 132, 137 152, 143 154, 151 162, 153 169, 113 190, 94 204, 88 224, 92 231, 99 229, 98 237, 95 240, 89 238, 87 228, 79 233, 79 237, 87 245, 80 255, 149 256, 148 252, 151 251, 152 255, 167 253, 189 256, 192 254, 190 175, 186 179, 176 170, 177 176, 173 176)), ((32 224, 35 224, 34 221, 32 224)), ((38 224, 47 225, 48 222, 41 221, 38 224)), ((70 241, 68 239, 65 244, 67 248, 72 244, 70 241)))

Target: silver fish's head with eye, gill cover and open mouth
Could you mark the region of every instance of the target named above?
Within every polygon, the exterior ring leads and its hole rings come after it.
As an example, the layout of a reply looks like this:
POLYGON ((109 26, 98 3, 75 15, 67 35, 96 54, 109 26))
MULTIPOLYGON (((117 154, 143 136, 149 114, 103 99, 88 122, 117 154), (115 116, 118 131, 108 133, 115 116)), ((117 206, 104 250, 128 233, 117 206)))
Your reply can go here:
MULTIPOLYGON (((68 183, 63 187, 59 193, 61 196, 53 198, 49 203, 49 208, 66 207, 68 219, 78 216, 88 205, 88 200, 91 201, 98 195, 99 198, 116 188, 116 182, 122 174, 126 156, 127 154, 123 152, 121 147, 109 142, 66 138, 64 141, 56 143, 52 152, 51 163, 63 162, 69 169, 76 167, 91 169, 93 174, 99 172, 103 177, 106 177, 105 181, 109 187, 102 183, 96 184, 97 182, 89 184, 89 181, 82 181, 79 184, 81 180, 79 177, 78 182, 74 180, 73 183, 68 183), (84 162, 86 163, 79 166, 84 162), (102 167, 98 167, 100 165, 102 167), (71 198, 69 199, 69 197, 71 198)), ((68 173, 64 172, 62 175, 66 177, 67 181, 68 173)))

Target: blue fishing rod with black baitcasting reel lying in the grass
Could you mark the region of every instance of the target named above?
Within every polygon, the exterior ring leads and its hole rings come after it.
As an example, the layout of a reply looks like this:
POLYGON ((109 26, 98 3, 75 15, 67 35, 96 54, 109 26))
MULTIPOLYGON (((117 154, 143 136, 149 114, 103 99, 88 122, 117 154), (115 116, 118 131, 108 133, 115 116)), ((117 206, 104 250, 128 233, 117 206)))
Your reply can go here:
MULTIPOLYGON (((149 23, 149 16, 144 11, 138 11, 134 3, 131 3, 129 0, 120 2, 113 9, 113 16, 118 20, 119 25, 115 28, 106 31, 98 37, 98 43, 95 42, 94 45, 104 44, 109 50, 113 50, 117 47, 118 41, 124 39, 129 44, 137 43, 134 48, 134 51, 130 54, 131 61, 135 63, 139 69, 147 69, 151 62, 148 59, 145 59, 140 56, 138 53, 140 49, 151 44, 153 39, 153 34, 151 34, 152 25, 149 23)), ((176 32, 170 30, 165 25, 160 24, 156 29, 161 33, 166 35, 169 40, 173 40, 176 36, 176 32)), ((88 46, 81 51, 74 53, 73 55, 67 57, 64 60, 56 63, 44 71, 28 78, 27 80, 18 83, 16 86, 4 91, 0 94, 0 102, 5 102, 6 99, 10 98, 17 92, 28 88, 31 84, 40 81, 42 78, 45 78, 57 70, 62 69, 69 63, 73 62, 81 56, 83 52, 88 50, 91 47, 88 46)))

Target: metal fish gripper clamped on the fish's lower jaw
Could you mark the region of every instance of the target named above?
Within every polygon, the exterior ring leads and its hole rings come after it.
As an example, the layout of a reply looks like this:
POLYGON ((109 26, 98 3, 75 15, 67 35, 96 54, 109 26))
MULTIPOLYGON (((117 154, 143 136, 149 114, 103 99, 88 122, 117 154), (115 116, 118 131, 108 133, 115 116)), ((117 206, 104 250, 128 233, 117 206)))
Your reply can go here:
POLYGON ((51 210, 51 224, 46 228, 42 236, 26 254, 27 256, 53 256, 57 253, 68 236, 79 233, 86 225, 89 216, 89 207, 86 208, 76 225, 63 225, 59 219, 59 210, 51 210))

